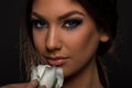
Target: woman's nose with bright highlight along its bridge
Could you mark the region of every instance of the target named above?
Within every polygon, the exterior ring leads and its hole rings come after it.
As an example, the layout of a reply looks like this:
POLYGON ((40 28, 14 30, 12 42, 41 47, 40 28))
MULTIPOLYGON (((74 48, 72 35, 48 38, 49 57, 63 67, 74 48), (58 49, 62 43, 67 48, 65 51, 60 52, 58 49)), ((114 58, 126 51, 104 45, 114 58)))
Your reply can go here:
POLYGON ((46 36, 46 50, 48 52, 58 51, 62 48, 59 32, 56 29, 52 29, 47 32, 46 36))

